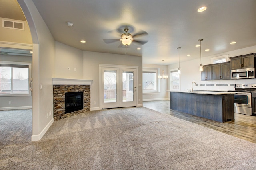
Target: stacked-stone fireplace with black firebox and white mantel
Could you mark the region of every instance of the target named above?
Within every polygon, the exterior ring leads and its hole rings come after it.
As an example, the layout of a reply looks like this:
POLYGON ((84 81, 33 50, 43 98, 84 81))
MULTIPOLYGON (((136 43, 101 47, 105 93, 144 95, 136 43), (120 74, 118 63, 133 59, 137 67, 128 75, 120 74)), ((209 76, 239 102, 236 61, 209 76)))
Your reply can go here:
POLYGON ((90 111, 92 80, 53 78, 54 121, 90 111), (79 97, 82 94, 81 97, 79 97), (80 98, 80 99, 79 99, 80 98), (68 100, 68 101, 66 101, 68 100), (66 104, 65 104, 66 101, 66 104), (72 101, 72 102, 71 102, 72 101), (82 104, 79 102, 82 101, 82 104), (80 107, 73 107, 73 106, 80 107), (65 108, 66 106, 66 108, 65 108))

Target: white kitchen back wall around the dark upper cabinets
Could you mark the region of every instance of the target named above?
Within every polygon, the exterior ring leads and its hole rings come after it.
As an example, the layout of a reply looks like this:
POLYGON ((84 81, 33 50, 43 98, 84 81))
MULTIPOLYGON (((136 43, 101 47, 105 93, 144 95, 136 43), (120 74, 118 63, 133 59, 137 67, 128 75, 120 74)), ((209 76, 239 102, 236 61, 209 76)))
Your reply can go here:
MULTIPOLYGON (((202 65, 212 64, 211 58, 221 55, 228 55, 228 57, 234 57, 238 55, 245 55, 256 52, 256 46, 247 47, 244 49, 238 49, 234 51, 229 51, 226 53, 220 53, 218 55, 212 55, 207 57, 202 57, 202 65)), ((230 60, 229 60, 230 61, 230 60)), ((256 79, 240 79, 240 80, 210 80, 210 81, 201 81, 201 72, 199 72, 200 58, 190 61, 185 61, 180 63, 180 84, 181 91, 186 91, 191 88, 192 82, 196 84, 205 84, 205 86, 193 86, 194 90, 234 90, 234 86, 230 84, 238 83, 256 83, 256 79), (206 86, 206 84, 214 84, 214 86, 206 86), (216 84, 228 84, 228 86, 216 86, 216 84)), ((168 70, 178 68, 178 63, 168 66, 168 70)), ((168 89, 170 86, 168 85, 168 89)))

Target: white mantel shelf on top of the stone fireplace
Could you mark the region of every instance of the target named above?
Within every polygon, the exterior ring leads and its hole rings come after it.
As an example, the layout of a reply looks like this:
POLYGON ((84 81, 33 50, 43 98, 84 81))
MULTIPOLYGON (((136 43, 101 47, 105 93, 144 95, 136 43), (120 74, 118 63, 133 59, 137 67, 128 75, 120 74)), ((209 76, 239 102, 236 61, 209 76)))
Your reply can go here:
POLYGON ((53 85, 91 85, 92 80, 69 79, 69 78, 52 78, 53 85))

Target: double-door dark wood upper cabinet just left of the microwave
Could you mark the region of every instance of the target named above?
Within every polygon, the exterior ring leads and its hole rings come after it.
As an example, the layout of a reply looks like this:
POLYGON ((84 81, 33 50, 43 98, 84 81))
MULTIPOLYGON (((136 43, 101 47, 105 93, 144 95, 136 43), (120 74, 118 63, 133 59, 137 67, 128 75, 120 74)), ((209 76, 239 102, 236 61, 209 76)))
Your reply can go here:
POLYGON ((212 64, 212 80, 230 79, 230 61, 220 64, 212 64))

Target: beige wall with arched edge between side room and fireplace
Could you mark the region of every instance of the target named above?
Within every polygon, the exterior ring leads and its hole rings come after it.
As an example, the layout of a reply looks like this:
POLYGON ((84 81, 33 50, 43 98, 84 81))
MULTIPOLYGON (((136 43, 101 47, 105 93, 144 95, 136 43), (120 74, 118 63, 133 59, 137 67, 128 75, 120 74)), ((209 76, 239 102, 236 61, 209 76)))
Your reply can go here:
POLYGON ((32 141, 40 140, 53 122, 52 77, 55 41, 32 0, 17 0, 30 27, 33 41, 32 141), (42 88, 40 86, 42 85, 42 88))

